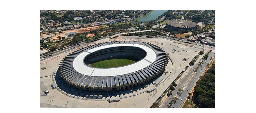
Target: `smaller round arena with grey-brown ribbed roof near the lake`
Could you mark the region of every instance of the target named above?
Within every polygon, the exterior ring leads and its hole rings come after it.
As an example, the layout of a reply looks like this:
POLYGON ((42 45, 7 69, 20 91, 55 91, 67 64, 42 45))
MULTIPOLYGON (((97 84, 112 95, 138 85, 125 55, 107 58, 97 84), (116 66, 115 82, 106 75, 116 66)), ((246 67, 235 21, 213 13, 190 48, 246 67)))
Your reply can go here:
POLYGON ((194 29, 196 28, 196 23, 188 20, 181 20, 181 19, 172 19, 166 22, 165 27, 171 28, 173 30, 179 30, 179 29, 194 29))

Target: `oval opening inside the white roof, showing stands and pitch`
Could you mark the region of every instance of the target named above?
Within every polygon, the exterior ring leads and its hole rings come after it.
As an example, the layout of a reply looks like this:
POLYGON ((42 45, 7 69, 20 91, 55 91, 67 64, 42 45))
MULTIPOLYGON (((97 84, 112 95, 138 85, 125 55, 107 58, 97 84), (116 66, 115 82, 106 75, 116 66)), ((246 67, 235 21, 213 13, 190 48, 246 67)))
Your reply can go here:
POLYGON ((93 68, 116 68, 134 64, 145 58, 146 54, 146 51, 139 47, 110 47, 88 54, 83 62, 93 68))

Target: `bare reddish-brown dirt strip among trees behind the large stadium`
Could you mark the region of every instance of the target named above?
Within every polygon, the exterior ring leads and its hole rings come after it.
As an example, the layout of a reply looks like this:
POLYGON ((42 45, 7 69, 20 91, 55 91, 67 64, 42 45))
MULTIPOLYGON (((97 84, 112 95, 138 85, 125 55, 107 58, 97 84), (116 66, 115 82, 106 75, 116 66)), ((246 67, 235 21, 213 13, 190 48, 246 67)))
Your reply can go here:
MULTIPOLYGON (((100 25, 100 26, 93 26, 93 27, 85 27, 85 28, 80 28, 80 29, 72 29, 72 30, 67 30, 67 31, 63 31, 61 33, 55 33, 55 34, 50 34, 50 35, 40 35, 40 39, 42 38, 46 38, 46 37, 52 37, 51 39, 58 39, 58 36, 61 37, 65 37, 65 33, 71 33, 71 32, 76 32, 76 33, 84 33, 84 32, 89 32, 92 31, 94 29, 99 29, 99 27, 102 27, 104 25, 100 25)), ((88 34, 87 36, 92 36, 92 34, 88 34)))

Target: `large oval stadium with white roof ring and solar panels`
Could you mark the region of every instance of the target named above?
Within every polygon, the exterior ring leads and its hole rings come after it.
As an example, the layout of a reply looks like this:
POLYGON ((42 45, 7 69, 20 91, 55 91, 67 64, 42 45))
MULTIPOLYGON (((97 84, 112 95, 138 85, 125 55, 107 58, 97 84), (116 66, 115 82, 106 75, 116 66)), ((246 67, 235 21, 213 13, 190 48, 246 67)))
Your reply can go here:
POLYGON ((110 41, 73 51, 60 62, 58 72, 74 88, 119 91, 152 82, 163 73, 167 63, 167 54, 156 45, 110 41))

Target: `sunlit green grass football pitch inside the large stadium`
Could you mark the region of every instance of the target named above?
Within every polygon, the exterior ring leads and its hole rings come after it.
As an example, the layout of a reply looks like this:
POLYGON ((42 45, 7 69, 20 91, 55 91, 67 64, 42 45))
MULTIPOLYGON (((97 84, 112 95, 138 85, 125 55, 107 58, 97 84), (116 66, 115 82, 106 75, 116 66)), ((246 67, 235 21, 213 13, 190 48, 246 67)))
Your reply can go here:
POLYGON ((100 62, 95 62, 91 64, 92 67, 95 68, 114 68, 114 67, 120 67, 125 66, 128 64, 134 63, 133 60, 128 59, 112 59, 112 60, 104 60, 100 62))

